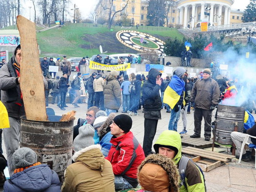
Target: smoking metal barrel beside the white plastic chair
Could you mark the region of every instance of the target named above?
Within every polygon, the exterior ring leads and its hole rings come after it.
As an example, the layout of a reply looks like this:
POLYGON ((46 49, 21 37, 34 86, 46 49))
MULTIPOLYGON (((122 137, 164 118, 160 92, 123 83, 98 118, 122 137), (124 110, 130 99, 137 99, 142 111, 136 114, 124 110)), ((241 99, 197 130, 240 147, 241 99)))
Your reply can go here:
POLYGON ((230 133, 234 131, 235 123, 238 123, 238 132, 244 129, 244 107, 218 105, 217 124, 216 124, 216 142, 222 145, 232 145, 230 133))

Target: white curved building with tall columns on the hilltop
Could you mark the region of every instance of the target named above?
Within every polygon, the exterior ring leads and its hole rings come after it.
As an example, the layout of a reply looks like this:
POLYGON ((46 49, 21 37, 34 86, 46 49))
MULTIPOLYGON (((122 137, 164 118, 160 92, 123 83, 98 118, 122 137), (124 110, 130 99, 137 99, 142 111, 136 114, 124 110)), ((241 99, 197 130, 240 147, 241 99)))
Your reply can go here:
MULTIPOLYGON (((177 0, 179 14, 177 20, 184 28, 199 27, 201 22, 209 22, 210 26, 230 24, 231 6, 234 0, 177 0)), ((240 10, 239 10, 240 12, 240 10)), ((243 12, 238 18, 242 20, 243 12)))

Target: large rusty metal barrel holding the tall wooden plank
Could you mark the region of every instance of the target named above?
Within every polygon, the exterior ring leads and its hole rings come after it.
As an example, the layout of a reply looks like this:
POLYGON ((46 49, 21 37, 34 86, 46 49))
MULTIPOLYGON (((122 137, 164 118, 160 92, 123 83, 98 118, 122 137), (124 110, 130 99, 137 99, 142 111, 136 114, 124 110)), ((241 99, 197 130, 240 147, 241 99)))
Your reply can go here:
POLYGON ((31 121, 21 117, 20 147, 34 150, 37 161, 56 171, 61 183, 65 169, 72 163, 73 124, 74 121, 31 121))

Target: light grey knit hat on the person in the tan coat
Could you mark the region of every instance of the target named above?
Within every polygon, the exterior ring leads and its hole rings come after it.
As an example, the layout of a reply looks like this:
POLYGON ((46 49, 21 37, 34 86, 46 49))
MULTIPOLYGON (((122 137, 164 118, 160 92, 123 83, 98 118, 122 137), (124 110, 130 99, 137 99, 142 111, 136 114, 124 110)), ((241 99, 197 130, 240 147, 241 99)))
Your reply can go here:
POLYGON ((89 147, 90 145, 94 145, 94 128, 90 124, 79 127, 78 131, 79 134, 73 142, 75 152, 80 151, 83 148, 89 147))

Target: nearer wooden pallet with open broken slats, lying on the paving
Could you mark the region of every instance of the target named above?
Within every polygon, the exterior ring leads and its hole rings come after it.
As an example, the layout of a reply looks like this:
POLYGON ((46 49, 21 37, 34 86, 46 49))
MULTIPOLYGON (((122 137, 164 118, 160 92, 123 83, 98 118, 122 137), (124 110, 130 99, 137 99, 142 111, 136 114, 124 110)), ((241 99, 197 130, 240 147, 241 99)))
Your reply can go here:
POLYGON ((204 149, 198 149, 194 147, 186 147, 182 149, 183 154, 189 154, 195 156, 192 158, 204 172, 211 171, 234 158, 234 155, 217 153, 213 151, 207 151, 204 149))

